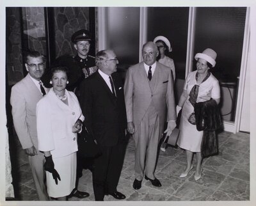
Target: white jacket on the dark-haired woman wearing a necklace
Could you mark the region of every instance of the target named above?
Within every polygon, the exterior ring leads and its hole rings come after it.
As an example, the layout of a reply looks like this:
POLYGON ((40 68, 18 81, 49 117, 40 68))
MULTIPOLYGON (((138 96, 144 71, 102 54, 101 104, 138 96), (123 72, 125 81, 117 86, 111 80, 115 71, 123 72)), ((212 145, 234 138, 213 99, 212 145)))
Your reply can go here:
POLYGON ((51 151, 52 157, 64 157, 77 151, 77 133, 72 126, 77 119, 84 121, 79 102, 67 91, 68 106, 50 90, 36 105, 38 149, 51 151))

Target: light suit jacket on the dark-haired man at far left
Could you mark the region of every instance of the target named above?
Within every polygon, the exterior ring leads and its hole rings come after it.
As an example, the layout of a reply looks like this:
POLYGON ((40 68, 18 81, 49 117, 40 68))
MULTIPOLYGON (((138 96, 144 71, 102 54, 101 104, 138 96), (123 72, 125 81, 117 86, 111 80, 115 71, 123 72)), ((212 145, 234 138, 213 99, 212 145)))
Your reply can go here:
POLYGON ((38 149, 36 132, 36 103, 42 93, 36 88, 29 74, 12 87, 11 99, 13 125, 22 148, 38 149))

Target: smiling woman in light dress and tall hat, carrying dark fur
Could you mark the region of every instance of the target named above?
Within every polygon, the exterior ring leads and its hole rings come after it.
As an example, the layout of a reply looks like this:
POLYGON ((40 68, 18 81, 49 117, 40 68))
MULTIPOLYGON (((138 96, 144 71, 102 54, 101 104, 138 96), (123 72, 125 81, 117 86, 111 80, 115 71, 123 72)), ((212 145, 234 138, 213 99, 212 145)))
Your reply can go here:
POLYGON ((184 84, 184 90, 176 107, 177 115, 180 109, 180 136, 177 145, 186 150, 187 165, 180 177, 187 177, 193 169, 193 154, 196 153, 195 180, 199 180, 202 173, 202 157, 200 145, 204 131, 197 131, 193 121, 194 105, 196 102, 205 102, 213 99, 217 104, 220 102, 220 85, 216 77, 209 72, 216 64, 216 52, 212 49, 205 49, 202 53, 195 55, 196 70, 190 72, 184 84))

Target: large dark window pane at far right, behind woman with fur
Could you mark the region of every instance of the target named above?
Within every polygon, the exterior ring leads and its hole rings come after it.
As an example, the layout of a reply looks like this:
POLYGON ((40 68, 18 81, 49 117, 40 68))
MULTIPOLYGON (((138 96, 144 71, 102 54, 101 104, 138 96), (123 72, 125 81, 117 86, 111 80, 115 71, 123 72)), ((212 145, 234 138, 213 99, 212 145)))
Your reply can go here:
POLYGON ((196 54, 206 48, 217 52, 216 66, 211 72, 220 81, 224 120, 234 121, 235 117, 245 18, 246 8, 196 9, 194 52, 196 54))

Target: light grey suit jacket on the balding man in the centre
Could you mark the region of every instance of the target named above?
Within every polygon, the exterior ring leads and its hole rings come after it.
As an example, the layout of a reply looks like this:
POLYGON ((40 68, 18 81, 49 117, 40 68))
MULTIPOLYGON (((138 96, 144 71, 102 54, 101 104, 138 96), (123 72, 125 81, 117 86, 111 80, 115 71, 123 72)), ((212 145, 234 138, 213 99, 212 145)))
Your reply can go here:
POLYGON ((154 88, 150 88, 143 62, 130 67, 125 77, 124 92, 127 122, 133 122, 135 130, 138 129, 150 102, 153 102, 157 111, 161 128, 163 128, 166 120, 166 109, 167 121, 176 120, 170 68, 156 62, 156 70, 152 78, 155 78, 154 88))

